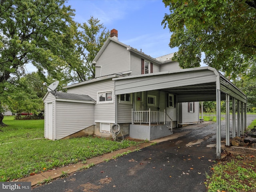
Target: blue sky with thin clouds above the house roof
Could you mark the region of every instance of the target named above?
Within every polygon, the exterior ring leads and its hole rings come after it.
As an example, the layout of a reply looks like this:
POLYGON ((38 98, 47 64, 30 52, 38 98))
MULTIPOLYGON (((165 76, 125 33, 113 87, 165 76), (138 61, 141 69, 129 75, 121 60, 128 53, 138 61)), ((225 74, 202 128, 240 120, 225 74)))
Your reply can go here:
POLYGON ((162 0, 69 0, 66 5, 76 10, 76 22, 98 18, 106 29, 118 30, 120 42, 153 58, 178 50, 168 46, 171 34, 161 25, 170 13, 162 0))

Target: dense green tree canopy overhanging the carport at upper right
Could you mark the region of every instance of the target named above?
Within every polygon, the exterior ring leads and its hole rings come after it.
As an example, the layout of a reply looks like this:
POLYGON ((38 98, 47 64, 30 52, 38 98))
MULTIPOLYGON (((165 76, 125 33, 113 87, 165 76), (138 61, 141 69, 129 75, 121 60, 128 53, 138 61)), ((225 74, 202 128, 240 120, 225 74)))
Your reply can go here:
POLYGON ((236 78, 256 55, 256 0, 163 0, 170 7, 170 47, 182 68, 204 63, 236 78))

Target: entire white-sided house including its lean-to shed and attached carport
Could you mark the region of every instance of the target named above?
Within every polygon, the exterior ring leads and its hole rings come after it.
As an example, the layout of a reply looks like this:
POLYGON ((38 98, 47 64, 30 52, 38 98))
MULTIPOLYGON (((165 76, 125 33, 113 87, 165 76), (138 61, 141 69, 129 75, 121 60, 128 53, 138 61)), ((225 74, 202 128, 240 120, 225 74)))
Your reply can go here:
POLYGON ((111 30, 93 60, 95 78, 64 87, 67 98, 60 92, 44 97, 45 137, 56 140, 83 132, 154 140, 178 126, 199 123, 199 101, 216 100, 217 114, 227 95, 228 101, 246 106, 245 94, 216 69, 180 69, 172 56, 152 58, 118 41, 117 30, 111 30))

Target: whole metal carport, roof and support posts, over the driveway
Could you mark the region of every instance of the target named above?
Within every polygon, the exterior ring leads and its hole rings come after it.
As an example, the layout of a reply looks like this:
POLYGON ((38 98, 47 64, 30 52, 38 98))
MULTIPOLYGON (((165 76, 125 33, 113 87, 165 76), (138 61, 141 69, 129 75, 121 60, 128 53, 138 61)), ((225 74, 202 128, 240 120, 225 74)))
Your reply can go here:
MULTIPOLYGON (((177 95, 177 102, 216 101, 216 158, 221 156, 221 100, 232 100, 232 137, 246 130, 246 95, 212 67, 198 67, 168 72, 113 78, 115 95, 162 90, 177 95), (237 110, 236 110, 237 108, 237 110), (237 122, 236 122, 237 111, 237 122)), ((117 100, 117 99, 116 99, 117 100)), ((230 108, 226 107, 226 145, 230 145, 230 108)), ((117 114, 116 114, 117 118, 117 114)), ((117 119, 116 119, 117 122, 117 119)))

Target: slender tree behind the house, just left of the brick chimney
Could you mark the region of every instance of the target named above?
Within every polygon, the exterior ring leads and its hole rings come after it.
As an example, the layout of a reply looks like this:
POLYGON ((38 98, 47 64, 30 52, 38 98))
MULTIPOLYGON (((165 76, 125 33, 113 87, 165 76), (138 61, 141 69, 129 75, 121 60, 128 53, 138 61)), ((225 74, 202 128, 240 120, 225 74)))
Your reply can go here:
POLYGON ((93 16, 87 20, 87 23, 76 23, 73 28, 77 31, 74 37, 76 51, 73 56, 75 59, 68 62, 66 75, 71 75, 70 80, 73 82, 82 82, 95 77, 92 60, 106 42, 110 32, 106 31, 106 27, 100 24, 100 20, 93 16))

